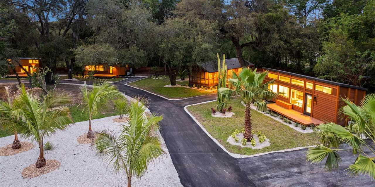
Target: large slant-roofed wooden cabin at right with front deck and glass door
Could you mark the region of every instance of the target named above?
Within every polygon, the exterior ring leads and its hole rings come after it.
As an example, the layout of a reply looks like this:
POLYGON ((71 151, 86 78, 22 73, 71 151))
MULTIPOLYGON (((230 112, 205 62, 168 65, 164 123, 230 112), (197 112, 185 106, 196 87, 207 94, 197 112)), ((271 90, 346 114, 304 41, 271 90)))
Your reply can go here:
POLYGON ((265 82, 275 80, 268 88, 279 92, 275 103, 267 108, 302 125, 319 125, 334 122, 346 125, 347 121, 339 114, 345 103, 341 98, 349 98, 359 105, 368 89, 333 82, 287 71, 263 68, 269 73, 265 82))

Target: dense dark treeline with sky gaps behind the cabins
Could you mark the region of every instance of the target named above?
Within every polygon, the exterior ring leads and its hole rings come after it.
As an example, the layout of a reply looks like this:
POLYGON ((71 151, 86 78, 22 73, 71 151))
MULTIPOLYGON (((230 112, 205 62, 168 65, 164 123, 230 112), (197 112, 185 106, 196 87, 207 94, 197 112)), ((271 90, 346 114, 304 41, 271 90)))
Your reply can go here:
POLYGON ((243 65, 375 85, 375 0, 5 0, 0 7, 3 66, 6 58, 39 57, 52 71, 68 67, 71 78, 88 64, 157 65, 174 84, 176 71, 225 53, 243 65))

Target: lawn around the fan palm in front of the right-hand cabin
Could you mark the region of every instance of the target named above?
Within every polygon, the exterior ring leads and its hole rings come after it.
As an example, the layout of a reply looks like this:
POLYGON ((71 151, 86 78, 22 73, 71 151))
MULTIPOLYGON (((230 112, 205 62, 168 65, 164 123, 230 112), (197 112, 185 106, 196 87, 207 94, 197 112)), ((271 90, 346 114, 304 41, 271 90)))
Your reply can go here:
POLYGON ((252 125, 255 132, 263 132, 270 140, 270 146, 263 149, 242 148, 237 145, 231 145, 226 140, 235 129, 241 130, 245 121, 245 107, 240 101, 232 99, 230 101, 232 112, 235 115, 231 118, 218 118, 211 116, 211 107, 216 107, 216 102, 208 102, 199 105, 189 106, 187 109, 195 116, 204 128, 220 142, 229 152, 252 155, 257 153, 266 153, 294 147, 306 147, 308 145, 319 144, 319 137, 316 132, 301 133, 294 129, 265 116, 258 111, 252 110, 252 125))

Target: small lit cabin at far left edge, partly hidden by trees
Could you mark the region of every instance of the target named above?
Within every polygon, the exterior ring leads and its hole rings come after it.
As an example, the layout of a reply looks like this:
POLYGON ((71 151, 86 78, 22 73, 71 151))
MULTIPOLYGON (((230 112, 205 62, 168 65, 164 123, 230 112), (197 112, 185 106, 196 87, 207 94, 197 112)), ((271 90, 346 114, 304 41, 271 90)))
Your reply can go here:
MULTIPOLYGON (((11 61, 12 59, 8 59, 11 61)), ((22 65, 22 67, 28 71, 30 74, 33 74, 37 71, 40 67, 39 58, 18 58, 18 62, 22 65)), ((20 77, 27 77, 27 73, 19 66, 15 67, 15 70, 20 77)), ((9 70, 9 76, 15 76, 15 72, 13 70, 9 70)))

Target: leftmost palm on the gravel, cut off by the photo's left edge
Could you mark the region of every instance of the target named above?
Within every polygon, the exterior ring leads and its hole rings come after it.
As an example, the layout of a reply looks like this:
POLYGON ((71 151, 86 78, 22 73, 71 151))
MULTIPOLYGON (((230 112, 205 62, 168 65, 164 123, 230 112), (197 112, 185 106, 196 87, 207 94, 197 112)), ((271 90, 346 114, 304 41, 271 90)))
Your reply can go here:
MULTIPOLYGON (((38 94, 42 92, 40 88, 26 88, 26 91, 31 94, 38 94)), ((5 94, 7 96, 7 102, 0 102, 0 126, 3 126, 8 131, 14 133, 14 140, 12 144, 12 149, 19 149, 21 148, 21 143, 18 140, 18 133, 15 129, 11 129, 14 126, 14 123, 22 123, 21 120, 15 119, 12 116, 12 111, 14 110, 13 107, 13 100, 20 95, 20 89, 16 85, 12 86, 5 86, 5 94)))

